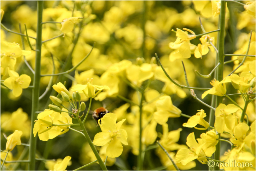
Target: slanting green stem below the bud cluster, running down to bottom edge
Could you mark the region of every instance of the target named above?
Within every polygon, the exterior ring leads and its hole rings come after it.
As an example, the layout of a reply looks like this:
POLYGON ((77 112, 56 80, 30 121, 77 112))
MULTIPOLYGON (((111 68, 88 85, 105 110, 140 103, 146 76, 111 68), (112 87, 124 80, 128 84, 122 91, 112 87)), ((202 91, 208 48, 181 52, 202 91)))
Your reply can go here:
POLYGON ((83 134, 85 134, 85 138, 86 138, 86 140, 87 140, 89 146, 92 148, 92 151, 93 151, 95 157, 97 158, 97 160, 98 160, 98 162, 99 162, 99 164, 100 164, 101 169, 102 169, 102 170, 107 170, 107 167, 105 166, 104 162, 103 162, 102 159, 100 158, 100 155, 99 155, 98 151, 96 150, 95 146, 93 145, 92 140, 91 140, 91 138, 89 137, 89 135, 88 135, 88 133, 87 133, 87 131, 86 131, 86 129, 85 129, 85 126, 83 125, 81 119, 80 119, 80 118, 77 118, 77 120, 78 120, 78 122, 79 122, 79 124, 80 124, 80 127, 81 127, 81 129, 82 129, 82 131, 83 131, 83 134))

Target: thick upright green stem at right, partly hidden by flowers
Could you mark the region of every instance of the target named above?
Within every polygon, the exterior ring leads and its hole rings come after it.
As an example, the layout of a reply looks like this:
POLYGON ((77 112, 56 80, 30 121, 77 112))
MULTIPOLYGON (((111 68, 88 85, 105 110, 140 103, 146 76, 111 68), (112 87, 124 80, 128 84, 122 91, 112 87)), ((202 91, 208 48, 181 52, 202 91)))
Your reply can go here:
MULTIPOLYGON (((218 37, 218 56, 217 62, 220 63, 219 67, 217 68, 217 81, 223 80, 223 65, 224 65, 224 44, 225 44, 225 15, 226 15, 226 1, 221 1, 220 7, 220 32, 218 37)), ((215 108, 219 106, 219 103, 223 103, 223 99, 221 96, 216 96, 216 103, 215 108)), ((220 160, 220 141, 216 145, 216 151, 214 153, 214 159, 220 160)), ((220 170, 219 166, 215 167, 215 170, 220 170)))

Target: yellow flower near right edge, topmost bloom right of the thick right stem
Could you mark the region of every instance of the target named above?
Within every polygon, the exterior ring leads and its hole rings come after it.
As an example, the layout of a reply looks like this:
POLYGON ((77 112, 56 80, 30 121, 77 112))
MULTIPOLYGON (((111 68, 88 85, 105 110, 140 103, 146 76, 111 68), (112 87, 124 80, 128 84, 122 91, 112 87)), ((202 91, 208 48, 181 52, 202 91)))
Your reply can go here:
POLYGON ((245 93, 250 87, 250 81, 254 78, 249 72, 242 72, 240 77, 237 74, 232 74, 230 80, 235 89, 245 93))

